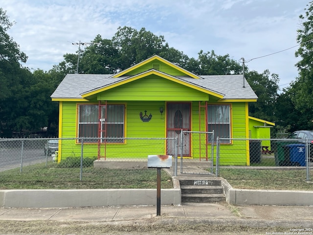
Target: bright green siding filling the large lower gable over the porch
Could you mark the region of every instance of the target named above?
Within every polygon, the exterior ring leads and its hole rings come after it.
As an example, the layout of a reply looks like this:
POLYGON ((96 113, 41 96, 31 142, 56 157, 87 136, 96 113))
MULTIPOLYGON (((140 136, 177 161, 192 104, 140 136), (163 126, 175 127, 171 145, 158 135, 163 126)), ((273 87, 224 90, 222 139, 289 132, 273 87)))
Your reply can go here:
POLYGON ((150 75, 102 92, 98 95, 98 99, 122 101, 193 101, 208 100, 208 94, 156 75, 150 75))

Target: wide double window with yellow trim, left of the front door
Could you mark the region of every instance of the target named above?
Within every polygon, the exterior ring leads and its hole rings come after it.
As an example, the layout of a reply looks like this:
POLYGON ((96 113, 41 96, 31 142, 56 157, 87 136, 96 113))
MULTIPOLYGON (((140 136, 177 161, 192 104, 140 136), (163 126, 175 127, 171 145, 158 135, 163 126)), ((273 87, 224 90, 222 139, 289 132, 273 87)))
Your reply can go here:
MULTIPOLYGON (((124 137, 124 105, 78 105, 78 137, 124 137), (99 108, 101 117, 99 120, 99 108)), ((97 142, 98 140, 88 140, 97 142)), ((107 142, 116 142, 107 139, 107 142)), ((123 141, 118 141, 123 142, 123 141)))

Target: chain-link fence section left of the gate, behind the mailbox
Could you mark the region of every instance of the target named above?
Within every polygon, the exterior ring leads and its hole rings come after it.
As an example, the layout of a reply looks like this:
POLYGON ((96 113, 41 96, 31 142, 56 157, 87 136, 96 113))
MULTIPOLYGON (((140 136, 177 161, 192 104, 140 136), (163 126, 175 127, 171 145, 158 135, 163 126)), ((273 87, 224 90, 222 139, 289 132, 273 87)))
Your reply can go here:
MULTIPOLYGON (((155 188, 148 155, 173 151, 175 170, 177 149, 165 149, 167 141, 177 148, 177 139, 166 138, 0 140, 0 187, 155 188)), ((173 188, 165 171, 161 185, 173 188)))

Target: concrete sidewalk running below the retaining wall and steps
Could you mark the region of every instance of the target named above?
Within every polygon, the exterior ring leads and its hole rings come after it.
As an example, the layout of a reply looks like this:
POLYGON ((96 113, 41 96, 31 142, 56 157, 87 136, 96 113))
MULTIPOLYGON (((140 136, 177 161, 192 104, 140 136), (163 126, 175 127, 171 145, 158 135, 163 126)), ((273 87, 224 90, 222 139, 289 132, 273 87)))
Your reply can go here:
POLYGON ((176 219, 180 223, 231 224, 251 227, 313 228, 313 207, 229 206, 226 203, 185 203, 182 206, 123 206, 94 208, 0 208, 0 220, 84 221, 113 224, 153 223, 176 219), (235 212, 233 212, 235 211, 235 212))

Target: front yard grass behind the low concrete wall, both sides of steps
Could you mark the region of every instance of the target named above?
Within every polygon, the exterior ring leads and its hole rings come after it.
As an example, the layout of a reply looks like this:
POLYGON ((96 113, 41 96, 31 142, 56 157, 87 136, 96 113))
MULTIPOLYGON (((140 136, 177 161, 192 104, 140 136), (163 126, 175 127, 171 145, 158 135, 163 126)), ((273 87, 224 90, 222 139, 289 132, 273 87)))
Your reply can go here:
MULTIPOLYGON (((72 160, 67 164, 49 162, 0 172, 0 189, 93 189, 93 188, 156 188, 156 169, 93 168, 91 161, 83 168, 72 160), (67 165, 67 167, 66 167, 67 165), (71 167, 68 167, 71 166, 71 167)), ((313 191, 306 182, 305 169, 242 169, 220 168, 220 176, 233 188, 313 191)), ((313 177, 313 170, 310 172, 313 177)), ((161 188, 173 188, 171 177, 161 173, 161 188)))

